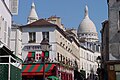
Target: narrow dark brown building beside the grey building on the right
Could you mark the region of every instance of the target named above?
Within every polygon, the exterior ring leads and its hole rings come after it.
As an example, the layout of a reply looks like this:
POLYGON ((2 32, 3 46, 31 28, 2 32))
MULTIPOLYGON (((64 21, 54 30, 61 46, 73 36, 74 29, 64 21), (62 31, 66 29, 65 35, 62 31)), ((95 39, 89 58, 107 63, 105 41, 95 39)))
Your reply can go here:
POLYGON ((109 23, 108 20, 105 20, 102 23, 101 29, 101 80, 106 79, 108 80, 107 75, 107 61, 109 61, 109 23))

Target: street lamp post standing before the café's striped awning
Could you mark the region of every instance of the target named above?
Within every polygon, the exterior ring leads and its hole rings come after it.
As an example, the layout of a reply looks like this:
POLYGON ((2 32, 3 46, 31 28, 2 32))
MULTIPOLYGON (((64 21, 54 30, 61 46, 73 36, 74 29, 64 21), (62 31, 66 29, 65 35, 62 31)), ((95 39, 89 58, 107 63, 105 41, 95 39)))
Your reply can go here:
POLYGON ((50 51, 50 47, 51 45, 49 44, 49 40, 47 38, 44 38, 41 43, 41 50, 44 53, 44 57, 43 57, 43 80, 45 80, 45 51, 50 51))

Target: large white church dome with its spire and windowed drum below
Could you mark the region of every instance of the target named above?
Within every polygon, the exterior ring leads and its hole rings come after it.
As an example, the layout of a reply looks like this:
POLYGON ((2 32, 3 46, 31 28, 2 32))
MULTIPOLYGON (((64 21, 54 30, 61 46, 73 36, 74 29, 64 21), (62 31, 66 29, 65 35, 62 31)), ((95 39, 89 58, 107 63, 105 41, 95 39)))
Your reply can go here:
POLYGON ((98 33, 95 24, 90 20, 88 7, 85 7, 85 16, 78 27, 78 38, 80 41, 95 42, 98 41, 98 33))

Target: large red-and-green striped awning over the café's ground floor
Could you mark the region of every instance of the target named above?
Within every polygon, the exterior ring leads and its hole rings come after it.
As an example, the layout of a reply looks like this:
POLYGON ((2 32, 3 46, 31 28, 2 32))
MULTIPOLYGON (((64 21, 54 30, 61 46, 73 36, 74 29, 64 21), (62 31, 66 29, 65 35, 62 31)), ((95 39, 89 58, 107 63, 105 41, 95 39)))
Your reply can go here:
MULTIPOLYGON (((45 64, 45 72, 51 73, 55 64, 45 64)), ((43 73, 43 64, 23 64, 22 65, 22 75, 40 75, 43 73)))

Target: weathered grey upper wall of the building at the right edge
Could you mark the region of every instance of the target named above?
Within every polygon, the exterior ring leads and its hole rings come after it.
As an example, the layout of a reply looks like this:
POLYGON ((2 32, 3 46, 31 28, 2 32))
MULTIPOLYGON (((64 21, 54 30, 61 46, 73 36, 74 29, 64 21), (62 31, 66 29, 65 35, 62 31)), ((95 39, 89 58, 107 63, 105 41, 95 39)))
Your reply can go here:
POLYGON ((120 1, 109 0, 109 2, 109 60, 118 60, 120 59, 120 1))

